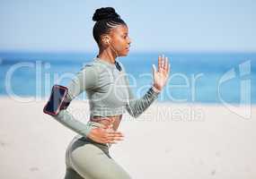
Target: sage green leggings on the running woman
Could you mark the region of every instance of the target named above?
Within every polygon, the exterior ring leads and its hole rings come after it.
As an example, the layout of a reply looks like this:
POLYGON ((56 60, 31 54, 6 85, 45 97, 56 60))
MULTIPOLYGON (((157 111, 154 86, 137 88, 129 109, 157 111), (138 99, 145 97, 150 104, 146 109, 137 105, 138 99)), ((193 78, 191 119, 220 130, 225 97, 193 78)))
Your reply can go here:
POLYGON ((66 149, 65 179, 130 179, 110 157, 109 146, 79 135, 66 149))

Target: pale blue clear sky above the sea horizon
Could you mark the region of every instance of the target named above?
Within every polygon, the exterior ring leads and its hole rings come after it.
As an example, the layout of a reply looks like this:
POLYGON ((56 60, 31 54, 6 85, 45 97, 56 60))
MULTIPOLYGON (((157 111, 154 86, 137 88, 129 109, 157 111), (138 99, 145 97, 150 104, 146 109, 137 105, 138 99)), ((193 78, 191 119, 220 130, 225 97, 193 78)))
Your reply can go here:
POLYGON ((92 16, 113 6, 131 52, 256 52, 254 0, 0 0, 0 50, 95 52, 92 16))

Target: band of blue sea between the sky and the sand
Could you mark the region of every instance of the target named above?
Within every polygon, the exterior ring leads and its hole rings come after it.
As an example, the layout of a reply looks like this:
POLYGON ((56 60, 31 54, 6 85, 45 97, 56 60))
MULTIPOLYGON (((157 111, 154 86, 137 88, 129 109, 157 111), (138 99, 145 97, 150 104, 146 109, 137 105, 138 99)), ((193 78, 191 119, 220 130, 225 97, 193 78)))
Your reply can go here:
MULTIPOLYGON (((157 53, 119 57, 135 95, 152 84, 157 53)), ((165 53, 171 73, 158 101, 173 103, 256 103, 256 54, 165 53)), ((0 95, 49 97, 53 84, 66 85, 95 54, 0 52, 0 95)), ((86 98, 86 97, 85 97, 86 98)))

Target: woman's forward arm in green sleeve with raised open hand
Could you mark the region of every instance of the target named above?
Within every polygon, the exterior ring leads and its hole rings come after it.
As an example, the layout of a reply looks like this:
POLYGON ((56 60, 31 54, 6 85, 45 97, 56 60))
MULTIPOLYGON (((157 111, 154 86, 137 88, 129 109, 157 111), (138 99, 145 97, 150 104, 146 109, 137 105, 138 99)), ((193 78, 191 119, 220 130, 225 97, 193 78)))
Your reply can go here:
MULTIPOLYGON (((146 91, 146 94, 142 98, 136 99, 128 87, 128 113, 134 117, 141 115, 147 107, 149 107, 154 100, 158 97, 161 90, 163 90, 166 81, 168 80, 170 72, 170 64, 168 63, 168 58, 164 56, 158 57, 158 70, 156 71, 153 64, 153 86, 146 91)), ((128 79, 127 79, 128 84, 128 79)))

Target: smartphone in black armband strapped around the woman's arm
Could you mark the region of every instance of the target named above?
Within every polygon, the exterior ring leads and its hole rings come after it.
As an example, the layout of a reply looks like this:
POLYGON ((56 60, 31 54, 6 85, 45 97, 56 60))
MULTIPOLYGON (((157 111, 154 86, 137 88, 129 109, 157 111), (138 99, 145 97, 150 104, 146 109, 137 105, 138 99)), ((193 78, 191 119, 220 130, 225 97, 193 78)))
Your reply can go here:
POLYGON ((66 109, 70 104, 70 101, 67 100, 67 91, 64 86, 54 85, 43 112, 49 115, 57 115, 60 110, 66 109))

